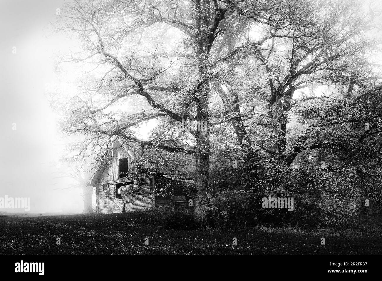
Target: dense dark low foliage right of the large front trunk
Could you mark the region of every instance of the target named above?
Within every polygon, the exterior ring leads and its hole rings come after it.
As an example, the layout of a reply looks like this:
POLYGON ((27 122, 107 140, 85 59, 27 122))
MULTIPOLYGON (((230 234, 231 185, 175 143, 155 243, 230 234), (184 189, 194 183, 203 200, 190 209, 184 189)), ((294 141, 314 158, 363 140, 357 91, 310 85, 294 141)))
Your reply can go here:
MULTIPOLYGON (((350 99, 301 102, 296 114, 308 128, 290 136, 289 155, 295 161, 280 154, 261 156, 262 151, 254 152, 256 146, 247 148, 252 152, 243 153, 238 169, 227 165, 212 178, 215 187, 211 185, 207 200, 211 215, 223 224, 274 216, 341 225, 360 212, 380 212, 381 99, 376 88, 350 99), (294 210, 263 209, 261 198, 269 195, 293 197, 294 210)), ((227 157, 228 164, 232 159, 227 157)))

